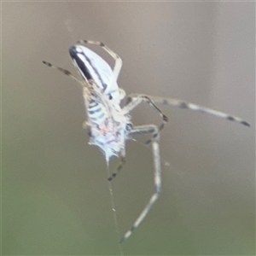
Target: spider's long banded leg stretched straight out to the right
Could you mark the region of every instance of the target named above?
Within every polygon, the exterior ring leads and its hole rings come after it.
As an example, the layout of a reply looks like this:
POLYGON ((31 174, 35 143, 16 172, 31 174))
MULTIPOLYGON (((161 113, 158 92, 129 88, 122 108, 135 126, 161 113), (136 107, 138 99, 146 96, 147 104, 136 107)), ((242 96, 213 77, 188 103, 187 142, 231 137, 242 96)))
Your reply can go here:
MULTIPOLYGON (((139 97, 144 96, 145 97, 146 95, 134 94, 134 95, 131 95, 130 97, 134 98, 134 97, 137 97, 137 96, 139 96, 139 97)), ((244 121, 243 119, 241 119, 239 117, 230 115, 229 113, 220 112, 220 111, 214 110, 212 108, 205 108, 205 107, 202 107, 200 105, 196 105, 196 104, 191 103, 191 102, 186 102, 186 101, 183 101, 183 100, 178 100, 178 99, 173 99, 173 98, 159 97, 159 96, 146 96, 146 97, 148 97, 152 102, 155 102, 155 103, 160 103, 160 104, 163 104, 163 105, 168 105, 168 106, 173 106, 173 107, 183 108, 183 109, 188 108, 188 109, 198 111, 198 112, 201 112, 201 113, 209 113, 209 114, 212 114, 214 116, 220 117, 222 119, 234 121, 234 122, 240 123, 241 125, 245 125, 245 126, 248 126, 248 127, 250 126, 250 124, 248 124, 247 121, 244 121)))

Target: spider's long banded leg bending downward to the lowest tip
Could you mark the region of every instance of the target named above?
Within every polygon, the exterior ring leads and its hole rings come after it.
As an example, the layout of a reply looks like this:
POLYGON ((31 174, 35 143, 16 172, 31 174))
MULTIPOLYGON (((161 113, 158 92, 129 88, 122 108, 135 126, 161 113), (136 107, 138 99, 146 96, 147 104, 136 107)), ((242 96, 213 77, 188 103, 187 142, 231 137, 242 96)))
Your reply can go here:
POLYGON ((137 229, 137 227, 143 222, 143 219, 146 218, 150 209, 154 206, 155 201, 160 196, 161 191, 161 167, 160 167, 160 148, 159 148, 159 137, 160 133, 156 125, 142 125, 136 126, 131 130, 131 135, 133 134, 142 134, 142 133, 154 133, 155 136, 152 139, 152 152, 154 159, 154 187, 155 192, 150 197, 148 204, 144 207, 143 212, 140 213, 134 224, 131 228, 126 231, 125 235, 119 240, 119 243, 125 242, 131 234, 137 229))

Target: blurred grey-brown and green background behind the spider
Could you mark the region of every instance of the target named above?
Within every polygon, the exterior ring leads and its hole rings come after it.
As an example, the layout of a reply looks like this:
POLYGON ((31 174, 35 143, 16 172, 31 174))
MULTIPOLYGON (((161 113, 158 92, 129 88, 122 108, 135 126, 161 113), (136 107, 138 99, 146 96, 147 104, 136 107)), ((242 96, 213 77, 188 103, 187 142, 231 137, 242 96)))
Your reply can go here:
MULTIPOLYGON (((128 94, 181 98, 252 125, 160 106, 170 119, 162 194, 125 255, 254 254, 255 3, 5 2, 2 15, 3 255, 119 254, 104 155, 82 129, 81 89, 42 64, 79 77, 67 51, 78 39, 122 57, 128 94)), ((147 105, 132 118, 160 124, 147 105)), ((154 191, 146 138, 127 142, 113 181, 120 236, 154 191)))

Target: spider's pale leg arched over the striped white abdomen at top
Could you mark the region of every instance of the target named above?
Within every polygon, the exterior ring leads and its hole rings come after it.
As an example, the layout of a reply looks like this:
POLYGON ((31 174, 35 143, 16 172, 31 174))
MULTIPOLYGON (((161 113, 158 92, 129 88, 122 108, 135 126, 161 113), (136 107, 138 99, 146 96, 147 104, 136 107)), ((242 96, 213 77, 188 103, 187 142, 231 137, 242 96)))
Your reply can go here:
POLYGON ((77 42, 78 44, 94 44, 101 46, 102 49, 105 49, 109 55, 113 57, 113 60, 115 61, 114 66, 113 66, 113 79, 117 81, 119 77, 119 73, 123 64, 122 59, 117 55, 116 53, 113 52, 112 49, 109 49, 107 45, 103 44, 102 42, 99 41, 90 41, 90 40, 79 40, 77 42))

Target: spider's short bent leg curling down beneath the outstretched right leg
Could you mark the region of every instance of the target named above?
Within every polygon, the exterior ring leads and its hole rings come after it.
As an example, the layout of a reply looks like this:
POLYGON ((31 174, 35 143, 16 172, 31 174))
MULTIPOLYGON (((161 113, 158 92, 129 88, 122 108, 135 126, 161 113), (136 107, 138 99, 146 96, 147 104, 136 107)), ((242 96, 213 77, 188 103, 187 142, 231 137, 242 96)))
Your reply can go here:
MULTIPOLYGON (((166 115, 160 110, 160 108, 158 108, 154 102, 151 99, 151 96, 147 96, 147 95, 130 95, 127 97, 127 102, 125 107, 123 108, 123 110, 126 113, 130 113, 132 109, 136 108, 139 104, 141 104, 142 102, 147 102, 148 105, 152 108, 154 108, 161 116, 162 118, 162 123, 161 125, 158 127, 158 131, 161 131, 164 129, 166 123, 168 122, 168 118, 166 117, 166 115)), ((153 134, 154 137, 154 134, 153 134)), ((146 144, 150 144, 152 142, 152 139, 148 139, 148 141, 146 142, 146 144)))

